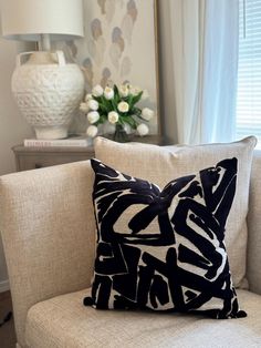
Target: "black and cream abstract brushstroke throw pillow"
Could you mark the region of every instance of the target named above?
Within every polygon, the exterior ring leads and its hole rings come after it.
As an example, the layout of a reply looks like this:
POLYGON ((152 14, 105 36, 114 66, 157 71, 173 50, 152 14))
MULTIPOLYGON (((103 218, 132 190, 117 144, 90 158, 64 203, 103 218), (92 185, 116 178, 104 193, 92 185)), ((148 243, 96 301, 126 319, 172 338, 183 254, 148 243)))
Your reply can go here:
POLYGON ((92 167, 97 249, 85 305, 246 316, 223 242, 237 158, 176 178, 163 191, 97 160, 92 167))

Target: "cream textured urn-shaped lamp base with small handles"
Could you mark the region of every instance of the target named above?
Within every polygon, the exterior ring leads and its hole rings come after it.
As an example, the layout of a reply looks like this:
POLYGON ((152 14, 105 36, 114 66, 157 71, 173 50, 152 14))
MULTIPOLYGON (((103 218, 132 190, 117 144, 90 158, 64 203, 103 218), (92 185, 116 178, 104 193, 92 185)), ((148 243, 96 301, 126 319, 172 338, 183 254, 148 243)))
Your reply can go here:
POLYGON ((38 139, 62 139, 82 101, 84 76, 76 64, 66 64, 62 51, 25 52, 17 58, 12 92, 38 139))

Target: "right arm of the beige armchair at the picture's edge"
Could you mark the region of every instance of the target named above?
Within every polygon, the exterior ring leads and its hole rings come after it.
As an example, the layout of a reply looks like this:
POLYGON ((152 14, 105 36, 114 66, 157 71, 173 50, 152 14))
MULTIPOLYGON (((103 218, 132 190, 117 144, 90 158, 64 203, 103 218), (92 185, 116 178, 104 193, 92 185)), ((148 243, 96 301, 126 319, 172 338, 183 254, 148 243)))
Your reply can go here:
POLYGON ((248 213, 248 267, 250 289, 261 295, 261 151, 254 151, 248 213))

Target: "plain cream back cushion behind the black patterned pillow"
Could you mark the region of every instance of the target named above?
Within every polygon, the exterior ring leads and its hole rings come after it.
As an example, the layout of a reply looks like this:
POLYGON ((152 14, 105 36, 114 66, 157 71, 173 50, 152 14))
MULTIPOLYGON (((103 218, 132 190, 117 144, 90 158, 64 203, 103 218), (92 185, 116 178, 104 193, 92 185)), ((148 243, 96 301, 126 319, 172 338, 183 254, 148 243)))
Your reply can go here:
POLYGON ((252 152, 255 137, 229 144, 167 146, 119 144, 104 137, 94 142, 96 158, 128 175, 163 188, 170 180, 196 173, 229 157, 238 158, 237 193, 227 222, 226 246, 236 287, 246 287, 247 213, 252 152))

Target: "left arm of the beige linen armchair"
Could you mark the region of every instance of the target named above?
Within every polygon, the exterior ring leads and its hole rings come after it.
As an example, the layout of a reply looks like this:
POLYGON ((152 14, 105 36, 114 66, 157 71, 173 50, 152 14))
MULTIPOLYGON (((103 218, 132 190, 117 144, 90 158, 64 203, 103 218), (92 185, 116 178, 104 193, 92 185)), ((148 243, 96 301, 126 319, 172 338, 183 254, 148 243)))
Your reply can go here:
POLYGON ((0 180, 0 231, 18 341, 28 309, 90 286, 95 222, 88 162, 20 172, 0 180))

